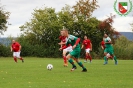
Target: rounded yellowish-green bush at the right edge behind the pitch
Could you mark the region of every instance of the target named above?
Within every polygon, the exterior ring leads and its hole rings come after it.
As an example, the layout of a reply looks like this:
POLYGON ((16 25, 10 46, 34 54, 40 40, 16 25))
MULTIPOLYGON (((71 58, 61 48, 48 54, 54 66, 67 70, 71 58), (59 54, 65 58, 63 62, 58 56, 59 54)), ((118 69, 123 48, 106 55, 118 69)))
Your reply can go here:
POLYGON ((133 59, 133 42, 121 36, 114 45, 115 55, 121 59, 133 59))

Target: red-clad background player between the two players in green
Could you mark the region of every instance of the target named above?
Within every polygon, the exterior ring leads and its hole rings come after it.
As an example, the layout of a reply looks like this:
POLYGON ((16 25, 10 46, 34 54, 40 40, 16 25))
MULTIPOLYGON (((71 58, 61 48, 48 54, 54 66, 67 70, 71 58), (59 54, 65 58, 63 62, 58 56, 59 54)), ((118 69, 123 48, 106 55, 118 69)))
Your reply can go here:
POLYGON ((90 60, 90 63, 91 63, 92 57, 91 57, 91 55, 90 55, 90 51, 92 51, 92 43, 91 43, 91 41, 87 38, 86 35, 84 36, 84 40, 83 40, 81 49, 83 49, 83 47, 85 47, 85 51, 86 51, 85 61, 84 61, 84 62, 87 62, 87 60, 89 59, 89 60, 90 60))

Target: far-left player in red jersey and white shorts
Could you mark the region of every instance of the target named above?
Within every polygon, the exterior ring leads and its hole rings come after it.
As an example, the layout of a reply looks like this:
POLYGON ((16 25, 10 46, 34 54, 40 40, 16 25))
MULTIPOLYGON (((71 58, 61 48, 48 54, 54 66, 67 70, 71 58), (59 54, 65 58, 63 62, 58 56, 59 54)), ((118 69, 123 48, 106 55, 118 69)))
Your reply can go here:
POLYGON ((20 60, 22 60, 22 62, 24 62, 24 59, 20 57, 21 45, 15 40, 12 40, 11 52, 13 52, 13 58, 16 63, 17 63, 17 58, 19 58, 20 60))

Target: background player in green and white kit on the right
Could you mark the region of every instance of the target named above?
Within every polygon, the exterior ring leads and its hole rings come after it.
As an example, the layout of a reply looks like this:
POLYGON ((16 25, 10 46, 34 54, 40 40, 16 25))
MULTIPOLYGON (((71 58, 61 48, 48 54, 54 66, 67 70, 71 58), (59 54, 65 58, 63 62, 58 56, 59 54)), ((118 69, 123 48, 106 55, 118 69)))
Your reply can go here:
POLYGON ((104 34, 104 42, 105 42, 105 49, 104 49, 104 65, 108 64, 108 60, 107 60, 107 54, 109 53, 112 58, 114 58, 115 60, 115 65, 117 65, 117 58, 116 56, 114 55, 114 50, 113 50, 113 46, 112 46, 112 42, 111 42, 111 39, 110 37, 105 33, 104 34))

